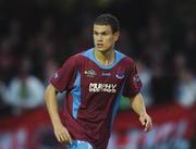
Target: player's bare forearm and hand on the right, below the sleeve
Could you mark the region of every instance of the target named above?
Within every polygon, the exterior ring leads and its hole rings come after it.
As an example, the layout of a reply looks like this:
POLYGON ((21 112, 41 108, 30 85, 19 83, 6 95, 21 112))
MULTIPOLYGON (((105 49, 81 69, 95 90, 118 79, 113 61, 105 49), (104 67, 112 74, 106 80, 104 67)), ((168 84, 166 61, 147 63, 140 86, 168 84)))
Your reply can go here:
POLYGON ((144 98, 140 94, 130 98, 131 107, 135 113, 139 115, 139 121, 143 126, 145 126, 145 132, 149 132, 152 128, 151 117, 146 112, 146 107, 144 103, 144 98))

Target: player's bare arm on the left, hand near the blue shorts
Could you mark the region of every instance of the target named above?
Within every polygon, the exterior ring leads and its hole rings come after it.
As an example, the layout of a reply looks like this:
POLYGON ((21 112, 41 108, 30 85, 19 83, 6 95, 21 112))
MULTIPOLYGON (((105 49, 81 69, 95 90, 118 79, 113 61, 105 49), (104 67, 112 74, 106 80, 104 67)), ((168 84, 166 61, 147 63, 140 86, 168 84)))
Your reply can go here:
POLYGON ((59 112, 58 112, 58 100, 57 90, 50 84, 45 91, 45 101, 47 105, 48 113, 50 115, 52 126, 54 129, 54 135, 59 142, 61 144, 72 144, 71 136, 65 126, 63 126, 59 112))

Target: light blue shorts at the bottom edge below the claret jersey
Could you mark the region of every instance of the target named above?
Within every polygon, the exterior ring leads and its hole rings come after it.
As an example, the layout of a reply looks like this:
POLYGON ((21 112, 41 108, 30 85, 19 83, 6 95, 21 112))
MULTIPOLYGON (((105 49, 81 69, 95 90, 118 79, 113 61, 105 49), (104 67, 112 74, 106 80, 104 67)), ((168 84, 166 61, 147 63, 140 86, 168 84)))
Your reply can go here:
POLYGON ((84 140, 73 140, 66 145, 66 149, 94 149, 93 146, 84 140))

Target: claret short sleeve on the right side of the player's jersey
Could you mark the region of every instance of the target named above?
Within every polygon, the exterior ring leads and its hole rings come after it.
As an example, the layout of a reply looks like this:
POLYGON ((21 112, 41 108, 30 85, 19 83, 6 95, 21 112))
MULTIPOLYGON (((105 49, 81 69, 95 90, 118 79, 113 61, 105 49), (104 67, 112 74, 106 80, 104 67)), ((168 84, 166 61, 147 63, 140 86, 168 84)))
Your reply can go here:
POLYGON ((130 64, 127 77, 124 84, 123 96, 133 97, 140 91, 143 84, 137 74, 137 69, 134 62, 130 64))

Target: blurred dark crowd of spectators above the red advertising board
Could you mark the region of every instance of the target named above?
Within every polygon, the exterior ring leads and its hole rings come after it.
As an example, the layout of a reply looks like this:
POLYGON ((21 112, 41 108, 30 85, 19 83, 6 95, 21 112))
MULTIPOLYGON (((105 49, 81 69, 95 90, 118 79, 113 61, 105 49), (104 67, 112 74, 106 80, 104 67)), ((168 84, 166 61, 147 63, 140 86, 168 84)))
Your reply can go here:
POLYGON ((103 12, 121 22, 117 50, 132 57, 148 108, 196 103, 194 0, 0 1, 0 115, 44 104, 44 90, 70 55, 93 47, 103 12))

